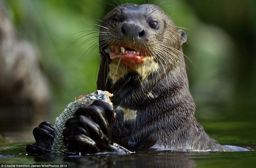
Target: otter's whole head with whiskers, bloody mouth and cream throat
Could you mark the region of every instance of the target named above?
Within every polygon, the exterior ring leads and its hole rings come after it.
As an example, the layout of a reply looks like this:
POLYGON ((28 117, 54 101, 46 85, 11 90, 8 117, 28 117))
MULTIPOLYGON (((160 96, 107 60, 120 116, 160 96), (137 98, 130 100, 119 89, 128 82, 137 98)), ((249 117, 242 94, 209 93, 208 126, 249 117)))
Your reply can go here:
POLYGON ((177 31, 156 5, 120 5, 105 16, 100 27, 101 66, 108 71, 105 80, 115 83, 127 74, 137 74, 143 82, 150 74, 159 75, 183 61, 181 45, 186 34, 177 31))

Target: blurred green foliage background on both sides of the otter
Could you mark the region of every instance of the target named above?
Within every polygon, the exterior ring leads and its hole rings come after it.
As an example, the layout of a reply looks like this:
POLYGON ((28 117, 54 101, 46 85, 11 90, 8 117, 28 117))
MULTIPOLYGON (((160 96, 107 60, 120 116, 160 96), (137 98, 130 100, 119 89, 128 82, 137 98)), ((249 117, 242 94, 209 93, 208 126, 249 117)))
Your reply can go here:
MULTIPOLYGON (((47 115, 51 123, 75 97, 96 90, 99 51, 96 48, 90 54, 85 52, 97 39, 80 47, 86 37, 74 42, 79 35, 74 33, 98 29, 93 24, 100 24, 98 19, 121 3, 6 1, 7 14, 16 29, 40 52, 40 65, 49 79, 52 95, 47 115)), ((256 2, 159 0, 155 4, 186 31, 183 52, 192 61, 185 58, 190 91, 197 106, 196 118, 210 136, 222 143, 255 142, 256 2)))

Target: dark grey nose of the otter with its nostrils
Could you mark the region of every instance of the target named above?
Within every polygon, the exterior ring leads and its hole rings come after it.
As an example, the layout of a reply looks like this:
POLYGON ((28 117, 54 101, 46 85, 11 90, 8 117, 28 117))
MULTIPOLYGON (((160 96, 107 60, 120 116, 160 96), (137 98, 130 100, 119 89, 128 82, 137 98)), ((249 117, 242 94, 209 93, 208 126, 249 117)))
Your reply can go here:
POLYGON ((145 35, 143 28, 136 23, 124 23, 121 27, 121 34, 124 36, 142 37, 145 35))

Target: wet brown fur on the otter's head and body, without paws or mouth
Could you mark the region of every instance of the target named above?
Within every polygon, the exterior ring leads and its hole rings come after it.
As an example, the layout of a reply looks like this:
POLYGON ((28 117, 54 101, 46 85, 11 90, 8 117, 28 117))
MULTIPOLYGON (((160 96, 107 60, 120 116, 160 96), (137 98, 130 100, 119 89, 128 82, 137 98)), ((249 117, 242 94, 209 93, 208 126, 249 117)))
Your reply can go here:
MULTIPOLYGON (((144 26, 144 25, 142 25, 144 26)), ((111 101, 117 119, 113 140, 130 150, 164 148, 200 151, 229 151, 204 131, 194 117, 195 103, 190 94, 181 45, 184 39, 172 19, 158 6, 123 4, 110 11, 101 22, 99 48, 101 64, 97 89, 113 93, 111 101), (158 31, 144 27, 145 39, 120 36, 131 10, 157 19, 158 31), (115 15, 124 22, 110 23, 115 15), (111 45, 129 46, 148 53, 148 63, 129 68, 117 66, 105 52, 111 45), (150 68, 151 67, 151 68, 150 68), (118 69, 118 77, 114 71, 118 69)))

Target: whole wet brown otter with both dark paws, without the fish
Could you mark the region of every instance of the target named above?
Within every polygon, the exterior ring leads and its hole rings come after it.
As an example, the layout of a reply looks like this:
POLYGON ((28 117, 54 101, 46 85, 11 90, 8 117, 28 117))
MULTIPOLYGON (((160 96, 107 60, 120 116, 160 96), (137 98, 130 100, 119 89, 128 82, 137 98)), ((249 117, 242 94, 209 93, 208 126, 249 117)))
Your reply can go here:
MULTIPOLYGON (((113 142, 131 151, 231 151, 194 117, 181 47, 186 38, 159 6, 125 3, 110 11, 100 24, 97 89, 114 94, 114 108, 97 101, 79 109, 63 131, 69 152, 111 152, 113 142)), ((28 153, 49 153, 53 132, 48 122, 35 128, 28 153)))

